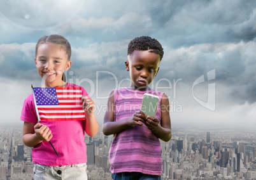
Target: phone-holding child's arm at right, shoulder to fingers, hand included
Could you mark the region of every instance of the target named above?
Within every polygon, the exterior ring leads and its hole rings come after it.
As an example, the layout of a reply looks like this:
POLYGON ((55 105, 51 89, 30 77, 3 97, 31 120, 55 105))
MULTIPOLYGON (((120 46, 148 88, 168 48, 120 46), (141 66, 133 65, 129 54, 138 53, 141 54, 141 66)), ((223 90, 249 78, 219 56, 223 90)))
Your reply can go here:
POLYGON ((163 94, 162 100, 160 102, 160 110, 161 110, 161 124, 159 124, 159 120, 153 117, 148 117, 146 120, 146 126, 148 129, 152 130, 153 134, 157 136, 157 138, 162 141, 169 141, 171 139, 171 118, 169 115, 169 100, 166 94, 163 94))

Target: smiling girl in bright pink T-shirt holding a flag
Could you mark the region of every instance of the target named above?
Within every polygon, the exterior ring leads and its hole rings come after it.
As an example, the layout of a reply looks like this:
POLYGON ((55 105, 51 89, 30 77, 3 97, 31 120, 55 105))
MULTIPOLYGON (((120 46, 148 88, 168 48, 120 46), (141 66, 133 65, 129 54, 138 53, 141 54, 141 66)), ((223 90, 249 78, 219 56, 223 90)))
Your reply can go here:
MULTIPOLYGON (((79 87, 62 80, 72 61, 71 46, 61 35, 43 36, 36 44, 34 62, 43 79, 42 87, 79 87)), ((23 141, 32 148, 34 179, 87 179, 85 132, 95 136, 99 125, 94 101, 82 88, 85 120, 41 120, 38 122, 33 95, 24 101, 20 119, 24 121, 23 141), (51 141, 59 156, 55 154, 51 141)))

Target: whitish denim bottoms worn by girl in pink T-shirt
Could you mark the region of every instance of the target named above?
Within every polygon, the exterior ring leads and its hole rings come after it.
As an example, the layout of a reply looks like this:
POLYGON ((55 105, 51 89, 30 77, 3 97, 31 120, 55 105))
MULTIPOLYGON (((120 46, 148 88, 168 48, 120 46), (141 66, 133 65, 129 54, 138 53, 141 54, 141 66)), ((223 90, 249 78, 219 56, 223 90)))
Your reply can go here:
POLYGON ((52 179, 87 179, 87 164, 47 166, 34 164, 34 180, 52 180, 52 179))

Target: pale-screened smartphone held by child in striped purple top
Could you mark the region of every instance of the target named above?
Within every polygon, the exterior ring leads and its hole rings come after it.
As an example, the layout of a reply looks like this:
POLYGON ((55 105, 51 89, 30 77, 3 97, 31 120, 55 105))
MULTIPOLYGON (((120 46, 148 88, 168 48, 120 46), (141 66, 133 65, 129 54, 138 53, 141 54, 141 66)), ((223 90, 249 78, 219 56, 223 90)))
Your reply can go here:
POLYGON ((141 104, 141 111, 145 113, 145 115, 155 117, 155 114, 157 113, 158 103, 158 96, 145 93, 141 104))

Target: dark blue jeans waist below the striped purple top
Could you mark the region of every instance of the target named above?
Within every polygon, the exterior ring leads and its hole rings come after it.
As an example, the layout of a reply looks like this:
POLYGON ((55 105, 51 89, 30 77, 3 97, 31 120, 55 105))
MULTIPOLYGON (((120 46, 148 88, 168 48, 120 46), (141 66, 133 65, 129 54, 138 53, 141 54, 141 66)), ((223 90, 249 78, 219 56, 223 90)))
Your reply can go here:
POLYGON ((160 180, 161 176, 143 174, 141 172, 119 172, 113 173, 112 178, 114 180, 160 180))

